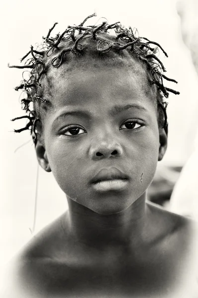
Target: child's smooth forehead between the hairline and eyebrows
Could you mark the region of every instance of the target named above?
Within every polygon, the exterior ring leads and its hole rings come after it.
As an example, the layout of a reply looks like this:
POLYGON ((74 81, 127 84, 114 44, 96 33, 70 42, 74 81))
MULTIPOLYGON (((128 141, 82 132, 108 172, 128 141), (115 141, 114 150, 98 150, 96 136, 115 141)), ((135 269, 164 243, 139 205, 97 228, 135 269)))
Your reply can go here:
MULTIPOLYGON (((56 69, 45 81, 53 109, 63 106, 106 106, 137 101, 144 104, 154 95, 145 71, 138 65, 56 69), (148 91, 149 88, 149 91, 148 91)), ((154 101, 154 100, 152 100, 154 101)))

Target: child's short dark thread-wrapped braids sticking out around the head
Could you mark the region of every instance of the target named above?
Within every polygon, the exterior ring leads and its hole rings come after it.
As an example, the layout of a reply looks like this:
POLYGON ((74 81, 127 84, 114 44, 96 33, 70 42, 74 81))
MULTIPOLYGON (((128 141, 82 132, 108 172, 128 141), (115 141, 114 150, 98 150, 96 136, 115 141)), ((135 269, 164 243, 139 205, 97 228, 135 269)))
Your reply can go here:
MULTIPOLYGON (((125 28, 120 22, 108 24, 107 21, 100 25, 85 26, 87 19, 96 16, 92 14, 87 16, 79 25, 67 26, 62 34, 51 36, 52 31, 58 23, 55 23, 49 30, 46 37, 43 37, 43 44, 34 49, 31 46, 30 51, 20 60, 24 62, 22 66, 9 66, 9 68, 29 69, 28 78, 24 78, 20 85, 15 87, 15 90, 23 90, 24 98, 21 99, 22 109, 26 111, 25 116, 16 117, 11 121, 26 118, 27 124, 21 128, 14 130, 20 133, 25 130, 30 130, 33 136, 33 142, 37 140, 36 125, 41 122, 38 111, 34 109, 36 103, 44 108, 50 105, 50 101, 42 95, 42 77, 49 72, 50 68, 59 68, 63 65, 69 55, 83 56, 86 52, 85 45, 90 45, 97 53, 98 57, 108 56, 110 52, 114 52, 117 57, 123 55, 127 51, 133 59, 138 61, 146 68, 149 75, 150 87, 155 86, 157 89, 157 104, 161 114, 158 118, 163 118, 163 127, 168 133, 166 107, 167 102, 164 98, 168 98, 169 92, 179 94, 171 88, 164 86, 164 79, 177 83, 176 80, 167 77, 164 73, 166 69, 156 53, 159 49, 168 57, 164 49, 154 41, 146 37, 140 37, 137 30, 131 27, 125 28), (114 35, 110 35, 110 31, 114 29, 114 35), (70 53, 70 54, 69 54, 70 53), (40 94, 38 94, 40 93, 40 94), (33 109, 30 108, 33 103, 33 109), (163 115, 162 115, 163 114, 163 115)), ((24 72, 23 72, 24 74, 24 72)))

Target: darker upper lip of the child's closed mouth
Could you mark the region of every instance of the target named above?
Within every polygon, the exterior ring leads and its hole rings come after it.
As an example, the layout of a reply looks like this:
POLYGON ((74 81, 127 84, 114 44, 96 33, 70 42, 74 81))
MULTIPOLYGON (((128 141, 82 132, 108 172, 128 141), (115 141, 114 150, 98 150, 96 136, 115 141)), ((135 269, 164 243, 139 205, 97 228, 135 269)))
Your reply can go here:
POLYGON ((118 179, 127 180, 129 179, 129 176, 124 174, 116 167, 103 168, 97 173, 97 175, 93 177, 93 179, 91 179, 91 183, 96 184, 101 181, 118 180, 118 179))

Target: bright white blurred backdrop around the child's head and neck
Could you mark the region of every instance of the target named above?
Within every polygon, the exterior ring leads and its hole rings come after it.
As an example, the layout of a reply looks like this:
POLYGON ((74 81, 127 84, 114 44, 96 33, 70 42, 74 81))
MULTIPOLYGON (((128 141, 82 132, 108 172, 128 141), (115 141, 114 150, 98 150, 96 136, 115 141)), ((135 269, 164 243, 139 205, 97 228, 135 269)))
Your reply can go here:
MULTIPOLYGON (((96 12, 95 22, 101 23, 99 18, 106 17, 109 23, 121 21, 125 26, 136 27, 140 36, 158 42, 168 53, 169 58, 166 58, 160 52, 160 60, 165 65, 167 76, 179 83, 170 82, 167 86, 181 94, 170 93, 168 99, 168 150, 158 163, 148 199, 169 209, 173 187, 194 151, 198 129, 198 77, 191 52, 183 42, 176 0, 7 0, 1 2, 0 11, 1 263, 7 262, 32 237, 30 229, 33 228, 37 177, 37 159, 30 134, 27 131, 14 134, 13 129, 21 125, 19 121, 10 122, 10 119, 23 115, 20 90, 14 90, 22 78, 22 70, 8 69, 7 63, 19 65, 30 45, 41 43, 42 36, 47 35, 55 22, 59 22, 54 31, 56 34, 63 32, 67 25, 78 24, 96 12)), ((52 173, 39 168, 35 232, 65 212, 66 208, 65 194, 52 173)))

